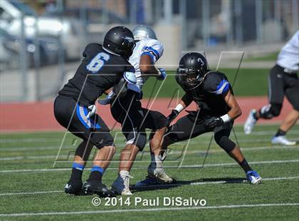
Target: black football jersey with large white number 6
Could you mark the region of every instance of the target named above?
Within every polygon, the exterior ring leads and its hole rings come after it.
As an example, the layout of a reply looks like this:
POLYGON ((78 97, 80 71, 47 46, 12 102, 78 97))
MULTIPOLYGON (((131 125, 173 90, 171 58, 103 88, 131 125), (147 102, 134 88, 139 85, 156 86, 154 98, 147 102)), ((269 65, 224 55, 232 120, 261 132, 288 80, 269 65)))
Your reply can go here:
POLYGON ((104 91, 120 81, 125 71, 134 72, 129 61, 106 51, 98 43, 88 44, 83 57, 75 76, 58 94, 70 96, 84 106, 93 105, 104 91))

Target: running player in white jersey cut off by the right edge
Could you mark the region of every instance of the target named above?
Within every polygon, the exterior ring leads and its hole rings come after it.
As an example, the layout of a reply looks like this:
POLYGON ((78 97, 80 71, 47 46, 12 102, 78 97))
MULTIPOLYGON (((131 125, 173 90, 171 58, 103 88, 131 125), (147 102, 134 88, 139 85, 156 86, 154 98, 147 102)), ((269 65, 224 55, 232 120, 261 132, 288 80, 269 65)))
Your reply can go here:
POLYGON ((258 119, 271 119, 280 114, 283 107, 283 98, 286 96, 293 110, 281 123, 276 135, 272 138, 273 144, 295 145, 295 141, 285 138, 285 134, 295 125, 299 118, 299 30, 290 41, 283 46, 268 78, 269 103, 259 111, 251 110, 244 125, 246 134, 250 134, 258 119))

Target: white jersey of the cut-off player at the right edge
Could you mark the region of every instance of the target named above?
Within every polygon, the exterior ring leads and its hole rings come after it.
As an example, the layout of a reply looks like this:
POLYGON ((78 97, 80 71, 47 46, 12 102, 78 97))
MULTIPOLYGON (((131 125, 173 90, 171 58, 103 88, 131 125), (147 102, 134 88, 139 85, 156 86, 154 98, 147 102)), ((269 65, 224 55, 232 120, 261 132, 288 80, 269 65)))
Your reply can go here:
POLYGON ((288 68, 290 71, 299 70, 299 30, 283 46, 276 63, 283 68, 288 68))

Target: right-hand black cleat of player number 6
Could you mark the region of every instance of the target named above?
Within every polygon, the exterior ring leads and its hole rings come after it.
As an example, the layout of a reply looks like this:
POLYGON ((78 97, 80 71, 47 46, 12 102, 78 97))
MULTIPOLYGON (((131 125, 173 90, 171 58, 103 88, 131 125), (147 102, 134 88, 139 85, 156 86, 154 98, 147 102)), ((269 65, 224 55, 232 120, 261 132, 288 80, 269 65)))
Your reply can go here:
POLYGON ((102 182, 86 181, 82 186, 83 195, 97 194, 99 197, 116 197, 116 193, 108 189, 102 182))

